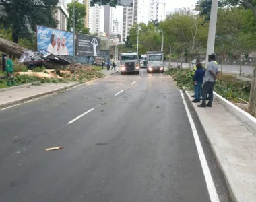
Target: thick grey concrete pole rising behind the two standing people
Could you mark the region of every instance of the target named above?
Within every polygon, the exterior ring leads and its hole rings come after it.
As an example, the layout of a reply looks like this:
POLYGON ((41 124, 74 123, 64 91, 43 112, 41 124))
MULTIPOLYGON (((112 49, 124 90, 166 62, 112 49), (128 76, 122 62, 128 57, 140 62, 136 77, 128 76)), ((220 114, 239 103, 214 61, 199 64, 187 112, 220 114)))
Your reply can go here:
POLYGON ((207 67, 207 64, 208 64, 208 56, 214 53, 217 13, 218 13, 218 0, 212 0, 205 67, 207 67))

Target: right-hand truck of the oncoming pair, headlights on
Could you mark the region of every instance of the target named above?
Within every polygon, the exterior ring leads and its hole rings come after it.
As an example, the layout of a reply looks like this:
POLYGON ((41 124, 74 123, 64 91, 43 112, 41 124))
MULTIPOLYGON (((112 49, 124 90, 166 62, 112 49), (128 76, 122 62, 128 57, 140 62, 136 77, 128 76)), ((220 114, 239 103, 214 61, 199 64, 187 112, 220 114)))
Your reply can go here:
POLYGON ((162 51, 147 52, 147 72, 164 72, 164 53, 162 51))

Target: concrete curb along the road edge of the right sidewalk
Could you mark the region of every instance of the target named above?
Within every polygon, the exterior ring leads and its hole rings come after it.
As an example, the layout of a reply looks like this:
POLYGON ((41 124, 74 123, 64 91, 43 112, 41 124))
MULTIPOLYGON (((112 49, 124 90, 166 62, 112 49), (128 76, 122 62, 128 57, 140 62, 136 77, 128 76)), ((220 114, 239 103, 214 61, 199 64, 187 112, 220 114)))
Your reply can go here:
MULTIPOLYGON (((185 90, 185 88, 183 88, 183 92, 185 94, 185 97, 190 101, 190 97, 189 97, 190 95, 185 90)), ((203 133, 205 133, 207 141, 212 149, 212 153, 214 154, 216 162, 225 178, 230 198, 232 199, 233 202, 245 202, 246 200, 245 200, 245 197, 243 196, 243 193, 241 193, 241 189, 236 187, 236 183, 234 183, 234 180, 232 180, 232 179, 236 179, 236 177, 232 173, 232 170, 229 168, 229 165, 226 162, 225 157, 221 154, 218 147, 215 146, 214 139, 212 139, 211 135, 209 133, 207 133, 207 130, 203 126, 201 118, 197 114, 197 111, 195 110, 195 105, 193 105, 192 102, 189 102, 189 106, 191 108, 193 108, 193 110, 195 111, 195 115, 197 116, 197 119, 199 120, 199 122, 202 126, 203 133)))

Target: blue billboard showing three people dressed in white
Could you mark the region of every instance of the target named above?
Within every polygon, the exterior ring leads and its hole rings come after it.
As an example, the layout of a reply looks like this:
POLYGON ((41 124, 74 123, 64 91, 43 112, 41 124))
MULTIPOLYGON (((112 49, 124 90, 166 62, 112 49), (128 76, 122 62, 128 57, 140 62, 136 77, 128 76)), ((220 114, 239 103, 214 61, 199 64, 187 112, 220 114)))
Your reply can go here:
POLYGON ((37 26, 37 49, 46 54, 73 55, 73 33, 37 26), (46 50, 46 51, 42 51, 46 50))

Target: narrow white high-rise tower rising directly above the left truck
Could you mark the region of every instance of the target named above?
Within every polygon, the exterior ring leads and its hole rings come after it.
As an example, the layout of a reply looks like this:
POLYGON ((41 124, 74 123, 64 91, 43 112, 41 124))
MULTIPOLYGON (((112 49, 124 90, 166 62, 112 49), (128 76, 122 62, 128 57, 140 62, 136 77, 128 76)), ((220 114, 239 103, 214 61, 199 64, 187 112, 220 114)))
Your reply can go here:
POLYGON ((131 26, 133 26, 133 6, 123 7, 123 40, 126 40, 131 26))

